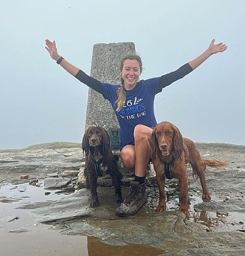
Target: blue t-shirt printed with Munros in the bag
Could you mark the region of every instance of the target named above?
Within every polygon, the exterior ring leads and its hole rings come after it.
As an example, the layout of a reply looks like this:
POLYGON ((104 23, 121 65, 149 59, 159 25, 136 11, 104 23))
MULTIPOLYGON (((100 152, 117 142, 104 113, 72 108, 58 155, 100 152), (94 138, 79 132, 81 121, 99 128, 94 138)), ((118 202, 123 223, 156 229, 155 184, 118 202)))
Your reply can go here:
POLYGON ((153 128, 156 125, 154 113, 154 98, 159 88, 159 78, 151 78, 137 82, 133 90, 125 92, 125 103, 122 109, 117 112, 115 101, 117 100, 118 85, 102 83, 103 97, 109 100, 115 115, 117 116, 120 129, 121 141, 120 149, 127 144, 134 145, 134 127, 142 124, 153 128))

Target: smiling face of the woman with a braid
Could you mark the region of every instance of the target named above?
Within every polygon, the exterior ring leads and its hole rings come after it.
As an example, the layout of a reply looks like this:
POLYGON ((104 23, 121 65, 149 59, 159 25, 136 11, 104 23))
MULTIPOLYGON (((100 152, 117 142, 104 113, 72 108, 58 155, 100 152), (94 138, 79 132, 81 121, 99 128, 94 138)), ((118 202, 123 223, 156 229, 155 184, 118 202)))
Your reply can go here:
POLYGON ((141 75, 140 63, 137 60, 126 59, 123 63, 121 76, 124 79, 124 87, 126 90, 131 90, 136 86, 136 82, 141 75))

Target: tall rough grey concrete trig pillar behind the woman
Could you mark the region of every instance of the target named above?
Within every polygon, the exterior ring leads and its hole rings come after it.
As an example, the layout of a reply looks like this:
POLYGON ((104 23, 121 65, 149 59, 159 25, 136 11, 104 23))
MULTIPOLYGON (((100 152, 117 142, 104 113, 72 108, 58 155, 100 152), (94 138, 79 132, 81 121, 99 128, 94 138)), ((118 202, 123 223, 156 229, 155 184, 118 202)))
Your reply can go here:
MULTIPOLYGON (((135 52, 133 42, 95 44, 93 46, 90 76, 100 82, 120 85, 121 59, 125 55, 135 52)), ((85 129, 93 125, 105 128, 111 137, 112 149, 119 149, 120 127, 111 103, 105 100, 101 94, 89 88, 85 129)))

